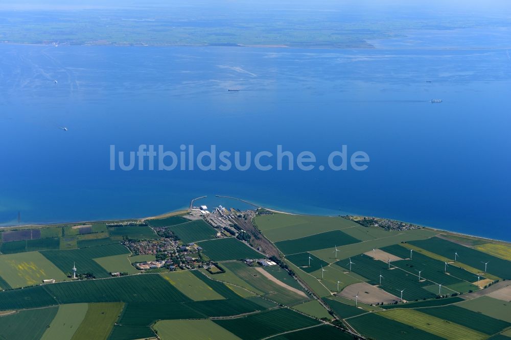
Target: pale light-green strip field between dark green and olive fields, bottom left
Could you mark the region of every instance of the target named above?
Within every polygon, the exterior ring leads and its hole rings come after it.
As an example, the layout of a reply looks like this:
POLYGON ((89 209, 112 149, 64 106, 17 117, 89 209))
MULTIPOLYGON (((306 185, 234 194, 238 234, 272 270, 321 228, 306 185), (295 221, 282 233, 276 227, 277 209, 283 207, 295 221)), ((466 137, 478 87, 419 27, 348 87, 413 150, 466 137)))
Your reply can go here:
POLYGON ((85 319, 87 309, 88 304, 86 303, 60 305, 55 318, 44 332, 41 340, 71 340, 85 319))

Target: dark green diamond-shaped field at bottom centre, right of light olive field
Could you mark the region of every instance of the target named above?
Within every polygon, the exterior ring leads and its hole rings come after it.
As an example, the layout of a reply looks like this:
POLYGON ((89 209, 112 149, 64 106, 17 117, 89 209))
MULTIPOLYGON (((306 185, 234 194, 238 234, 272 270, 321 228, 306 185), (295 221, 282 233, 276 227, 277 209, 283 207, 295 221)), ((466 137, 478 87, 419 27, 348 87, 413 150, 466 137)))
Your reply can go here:
POLYGON ((305 317, 288 308, 251 314, 236 319, 214 320, 213 322, 247 340, 260 339, 273 334, 319 324, 317 320, 305 317))

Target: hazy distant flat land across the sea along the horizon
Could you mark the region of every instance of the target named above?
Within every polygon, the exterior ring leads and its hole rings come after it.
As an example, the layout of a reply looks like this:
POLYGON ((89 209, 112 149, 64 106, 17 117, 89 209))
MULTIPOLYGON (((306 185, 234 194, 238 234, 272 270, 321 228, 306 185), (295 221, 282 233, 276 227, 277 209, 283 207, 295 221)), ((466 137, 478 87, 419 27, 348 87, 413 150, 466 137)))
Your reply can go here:
POLYGON ((0 41, 28 44, 288 46, 374 48, 375 39, 406 30, 507 27, 507 18, 482 13, 445 16, 442 6, 371 6, 337 2, 167 2, 44 7, 0 6, 0 41), (152 5, 151 5, 152 4, 152 5), (275 8, 277 6, 278 8, 275 8), (200 8, 200 10, 198 10, 200 8), (269 8, 272 8, 269 10, 269 8), (416 15, 410 16, 410 12, 416 15), (427 20, 427 23, 425 23, 427 20))

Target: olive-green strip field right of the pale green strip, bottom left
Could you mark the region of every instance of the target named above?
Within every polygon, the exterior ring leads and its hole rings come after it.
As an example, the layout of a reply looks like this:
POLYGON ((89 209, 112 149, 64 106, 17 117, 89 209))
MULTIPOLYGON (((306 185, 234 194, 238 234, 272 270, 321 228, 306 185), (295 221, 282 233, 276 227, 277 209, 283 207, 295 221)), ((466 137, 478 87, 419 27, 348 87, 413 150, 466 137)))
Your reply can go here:
POLYGON ((123 310, 122 302, 90 303, 72 340, 106 340, 123 310))

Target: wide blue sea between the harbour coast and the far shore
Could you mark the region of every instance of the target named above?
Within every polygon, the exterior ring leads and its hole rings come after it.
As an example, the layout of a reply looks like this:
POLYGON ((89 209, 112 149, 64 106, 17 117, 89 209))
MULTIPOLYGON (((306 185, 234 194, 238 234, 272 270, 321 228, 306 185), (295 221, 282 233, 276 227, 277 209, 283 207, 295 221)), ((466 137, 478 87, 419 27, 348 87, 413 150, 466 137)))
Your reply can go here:
POLYGON ((150 216, 226 195, 511 240, 509 52, 379 43, 0 44, 0 224, 16 224, 18 211, 24 223, 150 216), (361 172, 124 172, 109 169, 112 144, 176 153, 181 144, 275 153, 280 144, 314 152, 318 164, 347 145, 370 163, 361 172))

